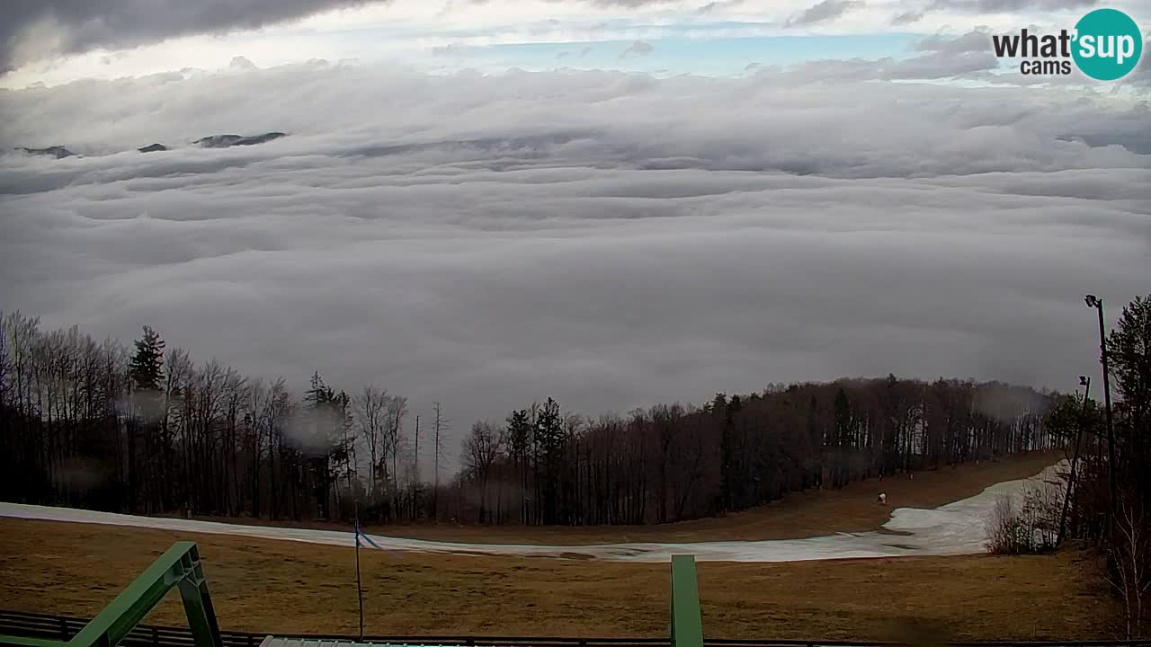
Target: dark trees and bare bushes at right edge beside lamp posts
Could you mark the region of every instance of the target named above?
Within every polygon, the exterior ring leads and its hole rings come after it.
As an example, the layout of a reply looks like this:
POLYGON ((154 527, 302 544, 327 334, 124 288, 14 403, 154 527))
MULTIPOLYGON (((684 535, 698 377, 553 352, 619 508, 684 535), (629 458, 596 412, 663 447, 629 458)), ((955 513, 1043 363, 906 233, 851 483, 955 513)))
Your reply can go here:
MULTIPOLYGON (((1084 300, 1103 324, 1102 302, 1084 300)), ((1125 635, 1137 638, 1151 616, 1151 296, 1127 304, 1100 342, 1107 379, 1082 376, 1084 393, 1058 396, 1044 420, 1068 451, 1062 482, 999 500, 988 548, 1044 553, 1067 540, 1095 548, 1088 555, 1098 568, 1084 571, 1114 593, 1125 635)))

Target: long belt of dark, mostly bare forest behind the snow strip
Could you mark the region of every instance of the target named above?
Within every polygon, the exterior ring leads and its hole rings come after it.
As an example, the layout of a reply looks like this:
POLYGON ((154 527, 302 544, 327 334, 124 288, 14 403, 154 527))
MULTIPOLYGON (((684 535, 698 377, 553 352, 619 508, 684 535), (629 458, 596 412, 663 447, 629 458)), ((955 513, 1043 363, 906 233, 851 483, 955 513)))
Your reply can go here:
POLYGON ((588 418, 554 399, 473 424, 440 404, 195 364, 0 317, 0 497, 132 513, 397 523, 648 524, 805 488, 1047 449, 1059 396, 999 382, 770 386, 588 418), (419 459, 417 458, 419 457, 419 459), (421 473, 421 466, 427 473, 421 473), (430 469, 428 469, 430 467, 430 469))

